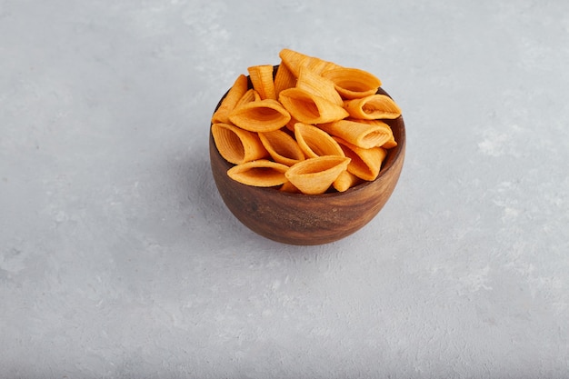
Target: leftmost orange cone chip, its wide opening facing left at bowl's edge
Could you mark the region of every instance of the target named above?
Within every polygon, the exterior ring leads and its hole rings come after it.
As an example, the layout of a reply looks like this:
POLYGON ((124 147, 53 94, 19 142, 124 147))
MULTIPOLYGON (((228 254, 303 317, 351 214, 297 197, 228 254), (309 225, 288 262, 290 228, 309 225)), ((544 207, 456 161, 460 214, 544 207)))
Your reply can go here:
POLYGON ((214 124, 212 135, 219 154, 234 165, 269 156, 256 133, 243 130, 235 125, 214 124))

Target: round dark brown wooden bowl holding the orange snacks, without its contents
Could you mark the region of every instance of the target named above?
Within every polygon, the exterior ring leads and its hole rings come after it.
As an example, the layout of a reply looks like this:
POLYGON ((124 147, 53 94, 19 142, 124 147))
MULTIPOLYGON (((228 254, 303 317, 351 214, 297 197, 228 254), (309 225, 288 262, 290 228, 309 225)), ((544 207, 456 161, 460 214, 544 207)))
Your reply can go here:
MULTIPOLYGON (((377 93, 387 95, 381 87, 377 93)), ((221 100, 217 107, 220 104, 221 100)), ((235 182, 226 174, 233 165, 217 151, 210 125, 209 155, 215 185, 231 213, 266 238, 298 245, 340 240, 354 234, 379 213, 401 174, 405 155, 403 117, 384 122, 393 129, 398 145, 388 150, 377 178, 343 193, 326 194, 291 194, 235 182)))

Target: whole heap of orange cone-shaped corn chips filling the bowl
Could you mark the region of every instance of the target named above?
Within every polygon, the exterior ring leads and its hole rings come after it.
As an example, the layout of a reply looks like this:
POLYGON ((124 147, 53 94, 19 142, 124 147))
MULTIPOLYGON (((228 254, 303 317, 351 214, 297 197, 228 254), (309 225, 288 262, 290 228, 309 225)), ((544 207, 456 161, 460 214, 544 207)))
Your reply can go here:
POLYGON ((302 194, 373 181, 397 145, 384 120, 401 109, 357 68, 283 49, 239 75, 212 116, 215 146, 244 185, 302 194), (250 84, 249 84, 250 81, 250 84))

